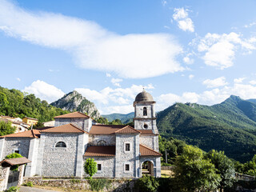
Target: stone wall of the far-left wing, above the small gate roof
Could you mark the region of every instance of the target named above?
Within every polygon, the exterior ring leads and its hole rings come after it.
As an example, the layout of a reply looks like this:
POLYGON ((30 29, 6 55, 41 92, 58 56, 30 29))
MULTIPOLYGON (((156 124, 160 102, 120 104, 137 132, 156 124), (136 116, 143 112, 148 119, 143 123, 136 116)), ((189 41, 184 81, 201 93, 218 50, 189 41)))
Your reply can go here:
POLYGON ((7 154, 14 153, 14 150, 19 150, 19 154, 28 158, 30 150, 30 138, 6 138, 2 158, 5 158, 7 154))

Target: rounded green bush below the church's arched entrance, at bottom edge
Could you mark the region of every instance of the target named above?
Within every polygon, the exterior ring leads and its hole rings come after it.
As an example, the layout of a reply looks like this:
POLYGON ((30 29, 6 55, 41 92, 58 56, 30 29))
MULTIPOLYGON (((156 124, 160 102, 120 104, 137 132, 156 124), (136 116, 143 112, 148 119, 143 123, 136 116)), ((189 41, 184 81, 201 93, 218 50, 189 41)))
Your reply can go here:
POLYGON ((143 192, 154 192, 158 190, 158 181, 149 175, 143 175, 142 178, 138 178, 135 183, 135 189, 143 192))

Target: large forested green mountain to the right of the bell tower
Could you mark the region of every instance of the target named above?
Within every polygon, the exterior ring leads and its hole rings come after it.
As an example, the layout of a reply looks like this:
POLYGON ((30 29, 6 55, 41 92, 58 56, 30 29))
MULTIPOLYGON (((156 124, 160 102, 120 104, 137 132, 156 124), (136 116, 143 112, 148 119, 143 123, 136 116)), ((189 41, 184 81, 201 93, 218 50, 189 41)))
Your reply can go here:
POLYGON ((157 125, 163 137, 224 150, 240 162, 256 154, 256 103, 234 95, 214 106, 176 103, 158 113, 157 125))

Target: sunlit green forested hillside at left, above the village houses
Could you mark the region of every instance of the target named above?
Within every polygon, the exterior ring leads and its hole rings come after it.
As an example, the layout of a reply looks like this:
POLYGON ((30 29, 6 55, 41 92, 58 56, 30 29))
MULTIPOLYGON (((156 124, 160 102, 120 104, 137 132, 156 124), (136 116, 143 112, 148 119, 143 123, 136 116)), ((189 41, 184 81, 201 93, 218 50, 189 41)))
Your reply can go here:
POLYGON ((23 94, 20 90, 8 90, 0 86, 0 115, 10 117, 38 118, 39 122, 54 120, 60 114, 69 111, 50 106, 46 101, 41 101, 34 94, 23 94))

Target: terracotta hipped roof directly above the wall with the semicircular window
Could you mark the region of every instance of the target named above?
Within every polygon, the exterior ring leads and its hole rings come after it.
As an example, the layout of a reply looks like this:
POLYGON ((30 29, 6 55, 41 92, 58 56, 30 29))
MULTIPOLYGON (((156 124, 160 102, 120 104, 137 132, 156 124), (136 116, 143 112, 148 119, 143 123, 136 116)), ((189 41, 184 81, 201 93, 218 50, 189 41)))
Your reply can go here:
POLYGON ((86 133, 86 131, 80 129, 78 126, 70 123, 63 126, 54 126, 52 128, 41 130, 41 133, 86 133))

